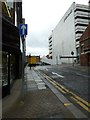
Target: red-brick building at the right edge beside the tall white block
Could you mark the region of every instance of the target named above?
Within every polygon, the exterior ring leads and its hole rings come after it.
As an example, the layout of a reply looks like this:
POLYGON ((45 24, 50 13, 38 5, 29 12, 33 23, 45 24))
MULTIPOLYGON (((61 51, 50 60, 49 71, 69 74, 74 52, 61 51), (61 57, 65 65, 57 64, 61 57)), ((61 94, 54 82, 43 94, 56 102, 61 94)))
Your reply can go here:
POLYGON ((90 66, 90 24, 80 38, 80 64, 90 66))

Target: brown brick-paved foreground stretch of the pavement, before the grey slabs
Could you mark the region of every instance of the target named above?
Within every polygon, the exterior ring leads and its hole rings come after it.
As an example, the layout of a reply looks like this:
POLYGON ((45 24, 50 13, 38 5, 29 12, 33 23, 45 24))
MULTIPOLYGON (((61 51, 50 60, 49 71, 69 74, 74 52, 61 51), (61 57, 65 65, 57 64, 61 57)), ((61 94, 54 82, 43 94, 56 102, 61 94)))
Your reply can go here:
POLYGON ((24 101, 15 104, 3 118, 73 118, 50 89, 32 90, 24 101))

